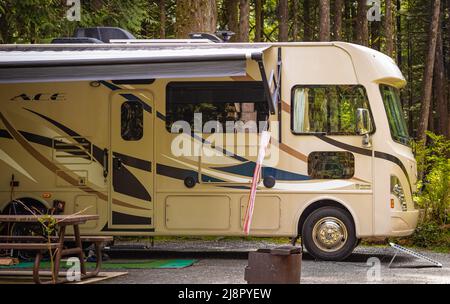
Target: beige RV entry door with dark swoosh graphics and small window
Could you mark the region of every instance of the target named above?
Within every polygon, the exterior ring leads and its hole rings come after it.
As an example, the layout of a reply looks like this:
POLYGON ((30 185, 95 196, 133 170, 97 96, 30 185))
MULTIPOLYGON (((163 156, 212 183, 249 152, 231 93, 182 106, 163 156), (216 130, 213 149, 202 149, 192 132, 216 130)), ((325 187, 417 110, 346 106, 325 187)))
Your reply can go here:
POLYGON ((154 112, 149 91, 111 93, 108 228, 137 232, 154 227, 154 112))

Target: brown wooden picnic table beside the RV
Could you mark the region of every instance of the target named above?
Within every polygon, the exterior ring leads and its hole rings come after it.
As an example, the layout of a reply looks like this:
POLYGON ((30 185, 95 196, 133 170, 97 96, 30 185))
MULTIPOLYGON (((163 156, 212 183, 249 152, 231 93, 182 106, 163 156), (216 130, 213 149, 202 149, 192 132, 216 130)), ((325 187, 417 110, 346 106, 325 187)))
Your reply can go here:
MULTIPOLYGON (((76 256, 80 260, 81 279, 97 276, 100 271, 102 253, 101 245, 112 240, 111 237, 88 237, 89 241, 95 243, 97 266, 94 271, 86 272, 82 238, 80 236, 79 225, 91 220, 98 220, 98 215, 0 215, 0 223, 41 223, 42 221, 56 220, 57 235, 46 238, 43 236, 0 236, 0 249, 35 250, 37 251, 34 267, 33 279, 35 283, 64 283, 68 279, 60 279, 60 263, 63 256, 76 256), (67 226, 73 226, 73 237, 66 236, 67 226), (32 241, 33 243, 30 243, 32 241), (64 248, 67 241, 73 241, 75 247, 64 248), (39 276, 39 267, 43 252, 55 250, 54 267, 52 269, 51 281, 42 282, 39 276)), ((0 272, 0 275, 13 275, 11 271, 0 272)))

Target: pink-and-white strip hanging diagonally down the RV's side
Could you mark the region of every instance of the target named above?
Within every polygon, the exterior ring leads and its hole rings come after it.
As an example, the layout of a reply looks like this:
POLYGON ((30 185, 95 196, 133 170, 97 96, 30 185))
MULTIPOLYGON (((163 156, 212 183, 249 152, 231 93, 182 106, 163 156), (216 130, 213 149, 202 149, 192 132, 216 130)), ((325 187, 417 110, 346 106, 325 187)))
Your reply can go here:
POLYGON ((253 210, 255 209, 256 198, 256 186, 259 182, 259 175, 261 173, 261 166, 266 155, 266 148, 269 145, 270 132, 261 132, 259 139, 258 158, 256 159, 255 171, 253 172, 252 187, 250 189, 250 196, 248 198, 247 210, 245 211, 244 218, 244 233, 248 235, 250 233, 250 226, 252 225, 253 210))

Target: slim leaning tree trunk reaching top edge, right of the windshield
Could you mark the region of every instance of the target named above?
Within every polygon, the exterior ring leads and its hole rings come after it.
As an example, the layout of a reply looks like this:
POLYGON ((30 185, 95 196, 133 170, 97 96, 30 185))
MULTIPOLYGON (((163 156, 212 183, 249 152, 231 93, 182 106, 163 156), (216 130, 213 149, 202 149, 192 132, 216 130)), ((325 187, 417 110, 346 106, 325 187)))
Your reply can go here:
POLYGON ((422 104, 420 107, 419 129, 417 137, 419 140, 425 140, 425 132, 428 130, 428 118, 430 116, 431 93, 433 87, 433 70, 436 56, 436 42, 439 28, 439 17, 441 11, 441 0, 435 0, 433 4, 433 12, 431 16, 431 24, 429 30, 428 55, 425 62, 425 71, 423 75, 422 104))

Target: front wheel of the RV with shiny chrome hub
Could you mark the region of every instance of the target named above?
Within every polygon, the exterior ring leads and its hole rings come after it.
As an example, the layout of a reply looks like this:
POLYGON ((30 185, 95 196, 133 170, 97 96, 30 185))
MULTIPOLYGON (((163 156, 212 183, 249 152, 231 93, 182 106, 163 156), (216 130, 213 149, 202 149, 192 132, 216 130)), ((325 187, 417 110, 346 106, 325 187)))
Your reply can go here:
POLYGON ((344 260, 353 252, 357 243, 351 215, 336 207, 315 210, 303 224, 302 243, 318 260, 344 260))

